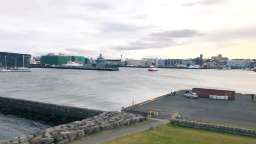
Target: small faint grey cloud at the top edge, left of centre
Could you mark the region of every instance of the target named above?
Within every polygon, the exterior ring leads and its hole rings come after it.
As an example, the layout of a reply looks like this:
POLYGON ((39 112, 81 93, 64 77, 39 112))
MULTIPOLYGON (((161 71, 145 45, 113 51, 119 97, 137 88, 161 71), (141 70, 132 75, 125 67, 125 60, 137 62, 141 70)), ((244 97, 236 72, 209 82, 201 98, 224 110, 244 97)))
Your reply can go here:
POLYGON ((115 8, 114 5, 110 5, 109 3, 100 3, 100 2, 83 3, 82 6, 88 8, 88 10, 112 10, 115 8))

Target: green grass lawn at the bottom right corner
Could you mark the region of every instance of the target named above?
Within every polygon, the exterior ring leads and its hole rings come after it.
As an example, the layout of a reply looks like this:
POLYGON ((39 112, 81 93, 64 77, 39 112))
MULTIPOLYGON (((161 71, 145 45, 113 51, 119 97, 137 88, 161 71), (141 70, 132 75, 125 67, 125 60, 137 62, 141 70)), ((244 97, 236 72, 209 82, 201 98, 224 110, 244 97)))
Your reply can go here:
POLYGON ((167 123, 104 144, 256 144, 256 138, 167 123))

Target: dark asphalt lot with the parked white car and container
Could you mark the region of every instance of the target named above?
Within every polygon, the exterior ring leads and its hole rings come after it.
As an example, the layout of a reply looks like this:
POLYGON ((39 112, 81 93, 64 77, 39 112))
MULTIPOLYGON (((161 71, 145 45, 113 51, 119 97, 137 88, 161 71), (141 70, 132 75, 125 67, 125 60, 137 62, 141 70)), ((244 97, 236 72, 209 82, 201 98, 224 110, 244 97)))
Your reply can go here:
POLYGON ((175 96, 157 99, 130 110, 157 111, 159 115, 153 118, 165 120, 174 114, 171 111, 178 111, 184 118, 256 127, 256 102, 251 101, 251 95, 236 93, 235 101, 223 101, 185 98, 183 94, 184 91, 181 91, 175 96))

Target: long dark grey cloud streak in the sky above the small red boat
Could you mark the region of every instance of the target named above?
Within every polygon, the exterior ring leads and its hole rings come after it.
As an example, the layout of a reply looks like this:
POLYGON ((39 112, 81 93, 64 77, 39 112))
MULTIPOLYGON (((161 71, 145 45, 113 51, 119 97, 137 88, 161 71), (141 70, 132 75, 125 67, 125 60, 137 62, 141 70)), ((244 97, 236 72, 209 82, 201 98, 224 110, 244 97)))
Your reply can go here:
POLYGON ((115 46, 115 50, 140 50, 150 48, 166 48, 170 46, 184 45, 187 43, 178 43, 173 38, 186 38, 202 36, 198 30, 182 29, 169 30, 163 32, 150 33, 147 37, 142 37, 140 40, 128 43, 128 45, 115 46))

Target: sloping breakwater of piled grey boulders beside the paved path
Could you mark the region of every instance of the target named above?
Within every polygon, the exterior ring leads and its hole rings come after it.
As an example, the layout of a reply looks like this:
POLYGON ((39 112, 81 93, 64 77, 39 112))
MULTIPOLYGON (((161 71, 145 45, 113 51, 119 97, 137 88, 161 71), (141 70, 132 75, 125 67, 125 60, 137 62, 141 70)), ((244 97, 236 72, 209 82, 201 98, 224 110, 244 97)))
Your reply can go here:
POLYGON ((103 112, 82 121, 46 128, 42 131, 27 133, 8 140, 0 140, 0 144, 66 144, 85 135, 111 130, 124 125, 132 125, 147 120, 146 117, 120 112, 103 112))

